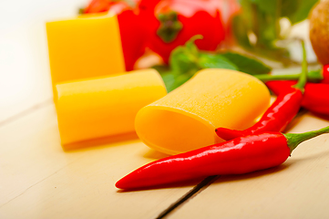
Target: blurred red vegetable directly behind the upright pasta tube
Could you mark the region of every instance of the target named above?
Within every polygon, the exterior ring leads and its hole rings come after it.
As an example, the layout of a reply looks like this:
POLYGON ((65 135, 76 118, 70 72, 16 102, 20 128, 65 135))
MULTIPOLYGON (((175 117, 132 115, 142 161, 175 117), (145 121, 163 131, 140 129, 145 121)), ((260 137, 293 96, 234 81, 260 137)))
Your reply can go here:
MULTIPOLYGON (((136 4, 138 2, 138 0, 135 0, 136 4)), ((129 5, 125 1, 93 0, 84 13, 107 11, 118 15, 118 26, 126 70, 133 70, 135 62, 145 52, 146 33, 143 24, 144 18, 139 15, 137 5, 129 5)))

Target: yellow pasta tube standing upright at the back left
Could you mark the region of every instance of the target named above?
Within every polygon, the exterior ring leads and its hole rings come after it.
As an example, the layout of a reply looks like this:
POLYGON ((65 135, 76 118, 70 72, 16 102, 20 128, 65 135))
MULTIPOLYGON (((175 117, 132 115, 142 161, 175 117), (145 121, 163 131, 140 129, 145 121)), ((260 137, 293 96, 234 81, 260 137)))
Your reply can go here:
POLYGON ((55 102, 59 83, 125 71, 118 18, 101 15, 46 23, 55 102))

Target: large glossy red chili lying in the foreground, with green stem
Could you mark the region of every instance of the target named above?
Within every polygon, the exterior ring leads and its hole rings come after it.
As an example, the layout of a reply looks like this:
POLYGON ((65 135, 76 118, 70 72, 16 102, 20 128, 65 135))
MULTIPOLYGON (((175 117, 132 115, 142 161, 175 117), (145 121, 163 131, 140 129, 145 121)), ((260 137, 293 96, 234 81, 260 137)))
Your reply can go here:
POLYGON ((301 134, 265 132, 221 142, 150 162, 119 180, 116 186, 138 189, 268 169, 285 162, 301 142, 328 132, 329 127, 301 134))

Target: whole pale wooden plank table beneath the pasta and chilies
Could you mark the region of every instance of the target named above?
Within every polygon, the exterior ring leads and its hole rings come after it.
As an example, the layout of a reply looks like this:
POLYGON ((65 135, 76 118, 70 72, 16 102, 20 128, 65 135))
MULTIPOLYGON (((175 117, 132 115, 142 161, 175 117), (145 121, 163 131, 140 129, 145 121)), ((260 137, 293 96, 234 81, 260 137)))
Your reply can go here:
MULTIPOLYGON (((304 142, 276 168, 133 192, 114 183, 165 156, 136 136, 63 151, 44 24, 74 15, 86 2, 2 5, 8 10, 0 14, 0 218, 156 218, 177 202, 165 217, 329 218, 329 135, 304 142)), ((289 131, 328 125, 307 112, 289 131)))

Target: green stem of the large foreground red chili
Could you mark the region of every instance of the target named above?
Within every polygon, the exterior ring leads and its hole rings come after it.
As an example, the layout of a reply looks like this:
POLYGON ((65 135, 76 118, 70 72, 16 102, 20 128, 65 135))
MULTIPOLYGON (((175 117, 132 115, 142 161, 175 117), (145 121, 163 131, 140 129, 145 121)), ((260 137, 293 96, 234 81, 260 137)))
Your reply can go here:
POLYGON ((285 133, 283 134, 284 137, 287 139, 287 144, 290 149, 290 152, 292 152, 300 143, 303 141, 312 139, 316 136, 322 135, 324 133, 329 133, 329 126, 321 129, 321 130, 311 130, 304 133, 285 133))

